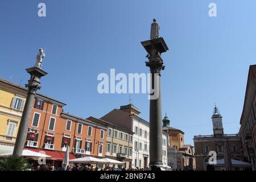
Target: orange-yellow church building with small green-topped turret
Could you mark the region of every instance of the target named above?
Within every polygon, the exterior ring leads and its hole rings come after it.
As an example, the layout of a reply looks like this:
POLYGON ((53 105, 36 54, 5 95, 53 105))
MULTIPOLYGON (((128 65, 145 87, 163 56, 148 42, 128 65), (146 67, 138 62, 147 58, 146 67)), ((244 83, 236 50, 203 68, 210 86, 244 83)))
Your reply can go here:
POLYGON ((168 166, 173 169, 195 169, 196 160, 193 146, 184 144, 184 132, 170 127, 167 115, 163 118, 163 131, 168 134, 168 166))

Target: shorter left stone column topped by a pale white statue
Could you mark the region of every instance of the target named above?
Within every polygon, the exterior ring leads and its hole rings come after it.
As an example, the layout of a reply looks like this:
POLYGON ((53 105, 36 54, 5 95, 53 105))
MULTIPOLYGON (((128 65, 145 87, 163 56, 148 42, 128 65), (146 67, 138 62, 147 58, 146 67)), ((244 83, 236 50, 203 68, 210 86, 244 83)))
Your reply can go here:
POLYGON ((28 84, 26 84, 26 87, 28 88, 27 99, 24 105, 22 118, 20 119, 19 130, 13 151, 13 155, 16 156, 22 156, 22 151, 27 138, 28 124, 30 122, 33 101, 36 91, 41 88, 40 78, 48 74, 46 71, 41 69, 44 56, 45 54, 43 53, 43 49, 39 49, 39 54, 36 56, 37 61, 35 66, 26 69, 26 71, 30 73, 30 80, 28 80, 28 84))

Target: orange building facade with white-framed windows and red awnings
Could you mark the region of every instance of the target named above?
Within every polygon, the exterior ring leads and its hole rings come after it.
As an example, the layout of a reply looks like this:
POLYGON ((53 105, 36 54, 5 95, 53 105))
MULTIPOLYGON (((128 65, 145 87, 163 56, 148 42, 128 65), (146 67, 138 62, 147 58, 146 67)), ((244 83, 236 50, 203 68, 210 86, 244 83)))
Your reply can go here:
POLYGON ((68 146, 71 153, 69 158, 104 158, 107 128, 64 113, 63 106, 63 102, 36 95, 24 147, 44 151, 52 156, 52 160, 62 160, 68 146))

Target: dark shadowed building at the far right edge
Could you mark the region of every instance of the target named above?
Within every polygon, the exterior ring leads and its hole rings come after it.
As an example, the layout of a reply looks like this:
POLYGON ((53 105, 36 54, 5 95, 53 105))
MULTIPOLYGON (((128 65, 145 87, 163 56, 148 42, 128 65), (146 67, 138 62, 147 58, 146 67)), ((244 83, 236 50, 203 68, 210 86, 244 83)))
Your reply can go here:
POLYGON ((256 65, 249 68, 245 100, 240 119, 239 135, 242 140, 242 150, 245 162, 253 164, 256 169, 256 65))

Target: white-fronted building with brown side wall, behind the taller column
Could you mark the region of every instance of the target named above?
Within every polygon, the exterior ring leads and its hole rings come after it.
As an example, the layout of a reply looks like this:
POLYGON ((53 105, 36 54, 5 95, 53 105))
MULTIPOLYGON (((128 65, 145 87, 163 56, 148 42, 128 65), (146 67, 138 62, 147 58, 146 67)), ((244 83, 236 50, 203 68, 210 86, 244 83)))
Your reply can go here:
MULTIPOLYGON (((133 131, 133 162, 132 167, 146 168, 149 165, 149 123, 139 117, 139 110, 134 105, 120 106, 114 109, 101 119, 113 123, 126 130, 133 131)), ((167 141, 167 135, 163 138, 167 141)), ((163 163, 167 164, 167 146, 163 144, 163 163), (165 151, 165 152, 164 152, 165 151)))

